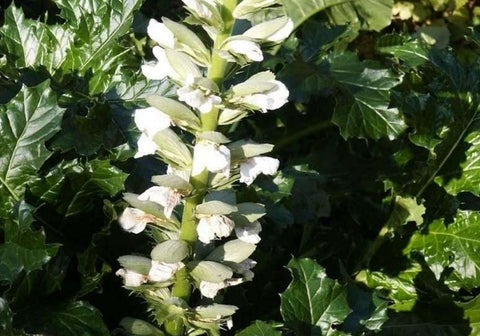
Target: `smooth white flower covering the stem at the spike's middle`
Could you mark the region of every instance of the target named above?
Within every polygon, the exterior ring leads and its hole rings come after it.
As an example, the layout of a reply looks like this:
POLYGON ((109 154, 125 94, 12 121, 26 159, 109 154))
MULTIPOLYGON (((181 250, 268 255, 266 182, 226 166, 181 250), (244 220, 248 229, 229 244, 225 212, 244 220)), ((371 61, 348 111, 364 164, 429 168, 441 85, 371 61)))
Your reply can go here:
POLYGON ((196 176, 204 169, 212 173, 230 175, 230 150, 223 145, 200 142, 193 153, 192 175, 196 176))

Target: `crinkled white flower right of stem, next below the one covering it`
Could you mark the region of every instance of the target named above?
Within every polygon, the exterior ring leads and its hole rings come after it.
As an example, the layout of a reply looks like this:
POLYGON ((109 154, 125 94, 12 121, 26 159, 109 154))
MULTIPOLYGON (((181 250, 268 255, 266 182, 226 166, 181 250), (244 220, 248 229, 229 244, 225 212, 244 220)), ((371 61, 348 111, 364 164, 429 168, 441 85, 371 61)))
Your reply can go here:
POLYGON ((223 215, 212 215, 200 218, 197 225, 198 240, 208 244, 214 239, 228 237, 235 223, 223 215))

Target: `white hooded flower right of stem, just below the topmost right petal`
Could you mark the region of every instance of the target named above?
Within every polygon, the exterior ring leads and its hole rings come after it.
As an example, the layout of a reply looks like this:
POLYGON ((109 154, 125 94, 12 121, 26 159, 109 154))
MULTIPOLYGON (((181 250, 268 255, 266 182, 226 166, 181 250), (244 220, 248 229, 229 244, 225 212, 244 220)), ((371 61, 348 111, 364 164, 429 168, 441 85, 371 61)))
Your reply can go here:
POLYGON ((239 36, 229 38, 223 44, 220 56, 231 62, 235 62, 236 57, 244 58, 245 62, 263 61, 262 49, 258 43, 239 36))

